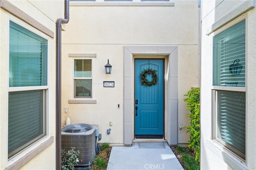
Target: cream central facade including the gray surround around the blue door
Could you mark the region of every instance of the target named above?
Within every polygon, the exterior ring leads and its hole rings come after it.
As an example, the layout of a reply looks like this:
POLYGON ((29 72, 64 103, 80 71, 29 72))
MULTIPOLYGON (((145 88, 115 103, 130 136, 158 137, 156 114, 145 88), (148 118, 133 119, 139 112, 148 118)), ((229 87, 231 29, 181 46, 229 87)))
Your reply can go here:
POLYGON ((70 2, 62 34, 62 125, 68 117, 71 123, 97 124, 99 142, 132 144, 134 58, 159 57, 166 68, 164 139, 187 143, 189 135, 178 126, 189 125, 184 94, 199 86, 198 12, 197 0, 70 2), (74 59, 92 59, 90 99, 74 98, 74 59), (108 59, 111 74, 104 70, 108 59), (103 81, 115 87, 104 88, 103 81))

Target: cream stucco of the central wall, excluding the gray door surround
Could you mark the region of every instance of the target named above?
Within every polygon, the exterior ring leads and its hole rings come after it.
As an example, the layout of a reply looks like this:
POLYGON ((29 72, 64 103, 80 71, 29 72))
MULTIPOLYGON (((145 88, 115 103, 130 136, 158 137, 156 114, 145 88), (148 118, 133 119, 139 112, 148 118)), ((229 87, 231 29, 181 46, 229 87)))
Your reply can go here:
MULTIPOLYGON (((124 6, 106 5, 108 2, 102 6, 89 6, 90 2, 80 6, 70 3, 70 22, 62 37, 62 125, 67 117, 71 123, 98 124, 102 133, 100 142, 124 142, 123 63, 126 45, 178 46, 178 125, 189 125, 183 95, 191 87, 198 86, 198 1, 172 2, 174 6, 161 6, 161 2, 158 6, 129 6, 127 2, 124 6), (96 54, 92 57, 92 99, 97 100, 96 104, 68 102, 74 99, 74 59, 78 59, 68 55, 74 53, 96 54), (107 59, 112 65, 110 75, 104 71, 107 59), (103 81, 115 81, 115 87, 104 88, 103 81), (117 108, 117 104, 121 107, 117 108), (64 108, 69 109, 67 113, 64 108), (113 126, 110 127, 109 121, 113 121, 113 126), (108 128, 112 129, 110 135, 106 134, 108 128)), ((170 125, 166 124, 166 128, 170 125)), ((178 130, 177 126, 175 131, 178 143, 188 142, 186 130, 178 130)))

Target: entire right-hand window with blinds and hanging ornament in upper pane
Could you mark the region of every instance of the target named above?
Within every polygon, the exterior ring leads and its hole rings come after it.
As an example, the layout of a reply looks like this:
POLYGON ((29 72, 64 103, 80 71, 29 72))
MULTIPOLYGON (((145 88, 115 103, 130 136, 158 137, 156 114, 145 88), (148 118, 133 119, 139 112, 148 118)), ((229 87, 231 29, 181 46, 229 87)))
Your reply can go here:
POLYGON ((245 160, 246 28, 242 20, 213 37, 213 138, 245 160))

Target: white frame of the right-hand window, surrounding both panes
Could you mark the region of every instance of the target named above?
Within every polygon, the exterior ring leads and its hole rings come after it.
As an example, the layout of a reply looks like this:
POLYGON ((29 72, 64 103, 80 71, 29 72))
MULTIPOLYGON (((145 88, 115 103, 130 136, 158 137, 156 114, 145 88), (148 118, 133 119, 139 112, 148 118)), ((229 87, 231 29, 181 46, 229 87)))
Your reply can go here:
POLYGON ((211 133, 211 139, 212 141, 215 141, 218 143, 218 146, 221 146, 226 152, 231 154, 234 158, 238 159, 240 162, 246 162, 246 153, 247 153, 247 92, 246 92, 246 87, 247 87, 247 36, 248 36, 248 26, 247 26, 247 17, 242 16, 234 21, 231 21, 230 23, 224 25, 220 29, 216 30, 212 34, 212 133, 211 133), (240 21, 245 20, 245 85, 244 87, 237 86, 237 87, 232 87, 232 86, 214 86, 214 49, 213 49, 213 38, 219 33, 222 33, 223 31, 226 31, 233 25, 236 25, 240 21), (231 92, 244 92, 245 93, 245 154, 244 157, 239 154, 239 152, 236 152, 236 149, 230 149, 229 146, 224 144, 224 141, 221 141, 217 137, 217 129, 218 129, 218 116, 217 116, 217 108, 218 108, 218 99, 217 99, 217 92, 218 90, 222 91, 231 91, 231 92))

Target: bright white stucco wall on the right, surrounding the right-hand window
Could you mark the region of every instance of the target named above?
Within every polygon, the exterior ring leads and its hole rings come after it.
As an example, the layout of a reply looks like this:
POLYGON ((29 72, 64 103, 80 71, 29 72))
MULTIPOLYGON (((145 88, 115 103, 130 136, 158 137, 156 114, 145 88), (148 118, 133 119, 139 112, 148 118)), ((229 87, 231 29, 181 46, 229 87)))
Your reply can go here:
POLYGON ((256 169, 256 11, 253 0, 202 1, 201 161, 200 169, 256 169), (212 36, 246 19, 246 160, 211 140, 212 36))

